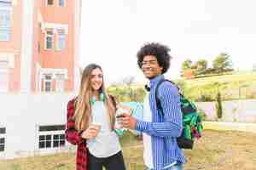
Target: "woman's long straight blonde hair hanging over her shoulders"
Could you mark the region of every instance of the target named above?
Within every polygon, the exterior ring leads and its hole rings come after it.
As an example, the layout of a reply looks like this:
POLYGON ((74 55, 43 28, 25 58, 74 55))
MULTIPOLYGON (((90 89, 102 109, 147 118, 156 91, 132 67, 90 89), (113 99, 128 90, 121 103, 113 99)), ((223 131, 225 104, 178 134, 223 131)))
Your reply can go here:
MULTIPOLYGON (((93 88, 90 85, 90 77, 91 72, 96 68, 102 71, 102 67, 96 64, 87 65, 84 68, 79 96, 75 99, 75 112, 73 115, 73 121, 75 122, 75 128, 78 132, 84 131, 91 122, 91 105, 90 99, 92 97, 93 88)), ((102 80, 102 93, 105 95, 104 103, 108 109, 109 119, 111 123, 111 127, 113 128, 113 116, 114 116, 114 105, 112 99, 110 99, 109 95, 106 93, 104 80, 102 80)))

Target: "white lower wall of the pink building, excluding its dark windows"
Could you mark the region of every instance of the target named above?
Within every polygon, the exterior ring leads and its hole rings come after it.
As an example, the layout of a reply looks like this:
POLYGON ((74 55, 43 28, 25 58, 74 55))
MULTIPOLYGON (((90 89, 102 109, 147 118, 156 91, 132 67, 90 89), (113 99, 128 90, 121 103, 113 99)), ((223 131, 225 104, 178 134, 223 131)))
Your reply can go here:
POLYGON ((0 127, 6 127, 0 158, 32 156, 38 150, 38 125, 65 124, 73 94, 0 94, 0 127))

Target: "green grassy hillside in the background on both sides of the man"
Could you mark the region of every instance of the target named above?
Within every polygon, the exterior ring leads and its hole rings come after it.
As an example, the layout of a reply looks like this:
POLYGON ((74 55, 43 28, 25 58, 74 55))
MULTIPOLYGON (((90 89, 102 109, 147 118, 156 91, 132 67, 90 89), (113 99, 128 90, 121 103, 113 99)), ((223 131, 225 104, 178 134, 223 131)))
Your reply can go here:
MULTIPOLYGON (((173 81, 182 82, 183 94, 195 101, 214 101, 218 91, 222 100, 256 99, 256 72, 235 72, 223 76, 173 81)), ((119 102, 141 102, 145 95, 143 85, 108 87, 108 92, 119 102)))

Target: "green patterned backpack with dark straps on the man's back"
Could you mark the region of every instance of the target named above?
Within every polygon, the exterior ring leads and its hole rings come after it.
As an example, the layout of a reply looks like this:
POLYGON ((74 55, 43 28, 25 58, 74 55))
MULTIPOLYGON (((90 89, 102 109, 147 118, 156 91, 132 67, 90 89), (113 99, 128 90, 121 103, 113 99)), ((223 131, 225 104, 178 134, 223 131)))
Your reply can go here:
MULTIPOLYGON (((160 99, 158 98, 158 88, 162 82, 171 82, 170 80, 163 79, 156 85, 155 88, 155 101, 157 109, 164 114, 160 105, 160 99)), ((175 85, 176 86, 176 85, 175 85)), ((177 86, 176 86, 177 87, 177 86)), ((177 88, 179 90, 179 88, 177 88)), ((183 113, 183 132, 180 137, 177 138, 177 145, 182 149, 193 149, 194 139, 201 138, 202 123, 201 117, 196 112, 196 106, 189 99, 185 98, 183 94, 180 94, 181 111, 183 113)))

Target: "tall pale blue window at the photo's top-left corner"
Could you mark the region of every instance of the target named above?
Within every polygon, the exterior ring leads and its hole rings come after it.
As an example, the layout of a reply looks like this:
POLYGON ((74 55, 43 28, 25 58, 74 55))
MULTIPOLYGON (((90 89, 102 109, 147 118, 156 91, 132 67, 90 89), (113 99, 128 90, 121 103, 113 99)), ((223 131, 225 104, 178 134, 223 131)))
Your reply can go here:
POLYGON ((0 1, 0 41, 10 39, 10 8, 11 2, 0 1))

